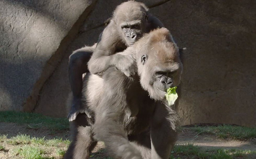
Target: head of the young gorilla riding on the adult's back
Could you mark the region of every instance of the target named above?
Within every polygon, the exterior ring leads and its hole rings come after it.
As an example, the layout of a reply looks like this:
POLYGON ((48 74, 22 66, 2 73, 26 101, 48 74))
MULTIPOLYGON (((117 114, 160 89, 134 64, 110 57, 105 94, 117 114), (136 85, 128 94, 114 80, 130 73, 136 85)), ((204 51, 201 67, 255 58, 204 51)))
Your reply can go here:
POLYGON ((122 35, 127 46, 134 44, 146 31, 148 8, 145 4, 128 1, 120 4, 114 11, 113 18, 116 29, 122 35))

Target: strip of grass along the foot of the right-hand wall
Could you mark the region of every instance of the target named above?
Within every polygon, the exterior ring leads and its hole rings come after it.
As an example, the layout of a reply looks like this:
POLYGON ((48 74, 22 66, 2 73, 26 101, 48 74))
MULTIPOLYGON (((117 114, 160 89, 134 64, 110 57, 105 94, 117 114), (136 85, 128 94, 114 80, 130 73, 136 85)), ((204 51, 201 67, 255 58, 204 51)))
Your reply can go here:
POLYGON ((191 130, 207 135, 216 135, 222 139, 256 139, 256 128, 248 128, 243 126, 206 126, 206 127, 192 127, 191 130))

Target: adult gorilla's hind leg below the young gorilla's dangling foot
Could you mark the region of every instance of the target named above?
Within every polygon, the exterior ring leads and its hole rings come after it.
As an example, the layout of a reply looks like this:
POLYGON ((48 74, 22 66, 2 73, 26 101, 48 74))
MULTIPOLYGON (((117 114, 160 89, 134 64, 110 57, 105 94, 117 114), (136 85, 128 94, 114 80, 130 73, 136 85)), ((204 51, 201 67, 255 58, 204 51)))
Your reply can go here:
POLYGON ((86 114, 78 114, 76 120, 72 122, 73 128, 71 131, 73 139, 69 145, 64 159, 88 159, 90 151, 96 146, 97 141, 93 139, 92 126, 86 114))

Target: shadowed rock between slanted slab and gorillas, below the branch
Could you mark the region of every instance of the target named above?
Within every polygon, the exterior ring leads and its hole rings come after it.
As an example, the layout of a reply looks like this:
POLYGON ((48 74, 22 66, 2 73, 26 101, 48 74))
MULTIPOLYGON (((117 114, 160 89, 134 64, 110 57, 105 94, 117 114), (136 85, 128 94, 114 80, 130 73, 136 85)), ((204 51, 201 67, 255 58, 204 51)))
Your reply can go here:
POLYGON ((69 45, 60 65, 56 68, 50 79, 44 84, 35 112, 42 112, 48 116, 66 116, 65 106, 68 93, 70 92, 70 85, 68 82, 68 57, 72 51, 83 47, 85 43, 90 46, 97 42, 98 35, 103 29, 104 27, 99 27, 92 31, 79 34, 69 45))

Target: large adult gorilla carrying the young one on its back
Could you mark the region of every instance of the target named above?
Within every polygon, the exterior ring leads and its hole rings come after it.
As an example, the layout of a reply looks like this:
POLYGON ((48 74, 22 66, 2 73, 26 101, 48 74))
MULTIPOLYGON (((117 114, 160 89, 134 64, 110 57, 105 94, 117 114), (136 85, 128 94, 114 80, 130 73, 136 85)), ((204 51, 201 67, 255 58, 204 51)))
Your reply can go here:
POLYGON ((97 141, 104 141, 115 159, 169 158, 178 115, 166 105, 165 90, 180 83, 179 49, 169 31, 161 28, 119 54, 136 59, 138 74, 127 77, 110 67, 102 77, 84 77, 84 104, 95 118, 78 114, 65 159, 88 159, 97 141))

